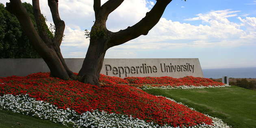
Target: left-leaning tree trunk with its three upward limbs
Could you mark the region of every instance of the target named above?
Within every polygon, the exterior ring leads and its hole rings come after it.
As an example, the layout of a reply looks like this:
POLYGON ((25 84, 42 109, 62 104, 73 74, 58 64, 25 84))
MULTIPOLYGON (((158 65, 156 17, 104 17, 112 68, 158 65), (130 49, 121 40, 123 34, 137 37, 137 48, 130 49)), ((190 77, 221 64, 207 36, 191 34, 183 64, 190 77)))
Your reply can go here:
MULTIPOLYGON (((55 0, 49 1, 55 2, 55 0)), ((58 4, 55 3, 55 6, 56 5, 58 4)), ((39 0, 33 0, 33 11, 39 33, 37 33, 37 30, 33 26, 30 17, 28 16, 28 13, 20 0, 10 0, 10 3, 7 3, 6 9, 17 17, 33 48, 35 48, 35 50, 40 56, 42 56, 43 60, 48 65, 51 75, 63 80, 72 80, 71 78, 75 78, 75 75, 67 68, 59 49, 65 24, 56 26, 56 29, 60 28, 63 30, 60 30, 61 32, 59 32, 54 39, 50 39, 44 27, 45 22, 42 21, 39 0), (61 35, 61 37, 59 35, 61 35)), ((56 12, 53 14, 56 14, 56 12)), ((56 15, 59 15, 59 13, 56 15)))

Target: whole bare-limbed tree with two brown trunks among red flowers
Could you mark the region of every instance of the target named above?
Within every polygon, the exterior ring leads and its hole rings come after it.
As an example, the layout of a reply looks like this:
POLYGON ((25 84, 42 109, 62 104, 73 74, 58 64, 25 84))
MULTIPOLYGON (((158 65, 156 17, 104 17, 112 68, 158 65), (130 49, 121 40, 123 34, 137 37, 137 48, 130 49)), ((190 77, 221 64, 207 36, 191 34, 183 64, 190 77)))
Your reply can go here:
POLYGON ((33 11, 38 33, 20 0, 10 0, 7 3, 6 9, 17 17, 30 43, 48 65, 51 76, 64 80, 79 80, 99 86, 98 80, 106 50, 113 46, 126 43, 140 35, 147 35, 149 30, 158 23, 165 8, 172 0, 157 0, 151 11, 146 13, 141 21, 131 27, 113 33, 106 28, 106 20, 108 15, 117 9, 123 1, 108 0, 101 6, 101 0, 94 0, 95 22, 90 32, 89 48, 78 76, 75 76, 69 70, 59 48, 65 23, 59 17, 58 0, 48 0, 48 6, 50 7, 56 28, 53 39, 47 35, 46 29, 43 27, 44 22, 39 8, 39 0, 33 0, 33 11))

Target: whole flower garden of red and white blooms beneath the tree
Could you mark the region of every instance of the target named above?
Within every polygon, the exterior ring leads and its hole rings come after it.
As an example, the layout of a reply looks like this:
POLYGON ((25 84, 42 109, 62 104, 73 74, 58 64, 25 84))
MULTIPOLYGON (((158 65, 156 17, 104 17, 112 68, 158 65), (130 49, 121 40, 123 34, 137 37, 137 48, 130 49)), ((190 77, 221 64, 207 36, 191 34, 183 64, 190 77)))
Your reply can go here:
POLYGON ((101 88, 35 73, 0 78, 0 109, 49 119, 73 127, 228 127, 169 98, 141 89, 226 87, 207 78, 102 75, 101 88))

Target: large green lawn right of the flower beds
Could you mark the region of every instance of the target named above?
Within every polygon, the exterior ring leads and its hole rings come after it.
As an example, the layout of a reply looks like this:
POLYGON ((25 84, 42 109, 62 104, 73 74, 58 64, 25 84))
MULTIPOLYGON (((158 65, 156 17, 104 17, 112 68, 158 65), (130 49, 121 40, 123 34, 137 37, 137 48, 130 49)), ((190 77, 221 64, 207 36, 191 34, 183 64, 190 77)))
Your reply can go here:
POLYGON ((256 128, 256 91, 232 86, 205 89, 146 89, 222 119, 234 128, 256 128))

